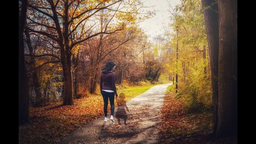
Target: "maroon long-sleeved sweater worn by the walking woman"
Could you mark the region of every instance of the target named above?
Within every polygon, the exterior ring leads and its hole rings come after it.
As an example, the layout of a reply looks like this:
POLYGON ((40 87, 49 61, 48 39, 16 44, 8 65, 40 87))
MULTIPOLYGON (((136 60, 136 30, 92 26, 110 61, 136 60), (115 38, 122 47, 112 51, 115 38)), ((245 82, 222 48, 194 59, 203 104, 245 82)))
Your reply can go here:
POLYGON ((115 92, 116 96, 116 76, 115 73, 103 73, 100 76, 100 91, 102 90, 112 90, 115 92))

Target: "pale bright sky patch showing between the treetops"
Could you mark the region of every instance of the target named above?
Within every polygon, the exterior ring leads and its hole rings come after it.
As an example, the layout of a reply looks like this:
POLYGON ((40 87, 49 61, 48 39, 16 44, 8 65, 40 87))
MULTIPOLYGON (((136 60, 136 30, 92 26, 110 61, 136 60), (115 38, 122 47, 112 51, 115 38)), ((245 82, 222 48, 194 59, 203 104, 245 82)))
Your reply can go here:
POLYGON ((174 9, 175 5, 180 4, 180 0, 142 0, 142 2, 144 2, 144 6, 153 6, 147 8, 147 10, 156 11, 156 15, 153 18, 140 22, 140 27, 152 39, 157 35, 163 34, 164 27, 167 27, 170 22, 169 17, 171 14, 168 10, 172 9, 169 7, 169 3, 174 9))

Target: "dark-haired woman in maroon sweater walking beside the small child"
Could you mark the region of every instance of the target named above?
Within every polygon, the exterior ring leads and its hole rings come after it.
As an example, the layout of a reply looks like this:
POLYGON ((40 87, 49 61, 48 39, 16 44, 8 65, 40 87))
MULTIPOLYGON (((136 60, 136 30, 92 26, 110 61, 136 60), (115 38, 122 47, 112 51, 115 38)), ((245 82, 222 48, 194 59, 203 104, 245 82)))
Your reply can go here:
POLYGON ((114 110, 115 110, 115 95, 118 97, 117 92, 116 92, 116 77, 115 73, 113 72, 116 68, 116 65, 114 62, 108 62, 101 70, 101 76, 100 76, 100 92, 103 97, 104 101, 104 114, 105 114, 105 119, 104 122, 108 121, 107 115, 108 115, 108 99, 110 101, 110 106, 111 106, 111 117, 110 121, 114 123, 114 110))

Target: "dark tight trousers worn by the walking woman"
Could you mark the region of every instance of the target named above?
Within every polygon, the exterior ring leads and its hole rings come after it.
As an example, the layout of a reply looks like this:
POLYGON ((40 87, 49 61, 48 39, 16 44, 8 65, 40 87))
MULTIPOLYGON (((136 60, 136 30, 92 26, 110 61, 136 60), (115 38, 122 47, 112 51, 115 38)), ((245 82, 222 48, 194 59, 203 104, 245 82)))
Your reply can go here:
POLYGON ((115 110, 115 93, 114 92, 106 92, 106 91, 101 91, 103 101, 104 101, 104 114, 105 116, 108 116, 108 98, 110 101, 110 106, 111 106, 111 115, 114 115, 114 110, 115 110))

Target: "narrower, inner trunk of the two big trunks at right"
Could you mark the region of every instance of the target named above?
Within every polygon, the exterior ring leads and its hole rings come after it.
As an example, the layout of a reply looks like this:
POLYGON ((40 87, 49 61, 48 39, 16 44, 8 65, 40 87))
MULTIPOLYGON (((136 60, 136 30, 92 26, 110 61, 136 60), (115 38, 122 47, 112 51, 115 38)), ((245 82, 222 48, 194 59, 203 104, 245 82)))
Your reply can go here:
POLYGON ((213 134, 217 130, 218 121, 218 58, 219 58, 219 25, 218 5, 215 0, 202 0, 202 6, 208 7, 204 11, 207 42, 212 74, 212 101, 213 101, 213 134))

